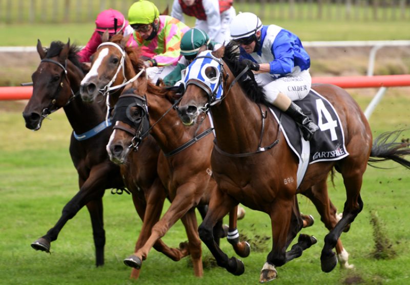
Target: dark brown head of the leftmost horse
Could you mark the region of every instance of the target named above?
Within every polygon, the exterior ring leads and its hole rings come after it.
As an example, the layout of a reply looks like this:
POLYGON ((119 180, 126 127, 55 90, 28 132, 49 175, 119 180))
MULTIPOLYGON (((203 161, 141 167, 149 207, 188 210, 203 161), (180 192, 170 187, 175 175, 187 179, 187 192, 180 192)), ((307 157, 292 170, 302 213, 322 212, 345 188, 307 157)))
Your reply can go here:
POLYGON ((52 42, 48 49, 38 40, 41 61, 32 74, 33 94, 23 111, 27 128, 38 130, 44 118, 75 98, 73 88, 84 77, 76 55, 78 50, 70 46, 70 40, 67 44, 52 42))

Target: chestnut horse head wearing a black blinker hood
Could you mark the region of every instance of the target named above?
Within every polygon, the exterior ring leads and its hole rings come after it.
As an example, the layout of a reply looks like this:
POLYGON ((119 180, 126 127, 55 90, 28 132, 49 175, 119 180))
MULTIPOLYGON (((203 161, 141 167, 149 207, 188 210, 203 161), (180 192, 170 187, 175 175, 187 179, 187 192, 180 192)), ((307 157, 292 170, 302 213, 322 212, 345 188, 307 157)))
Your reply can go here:
POLYGON ((130 149, 138 150, 141 141, 148 136, 148 105, 145 97, 128 89, 121 94, 115 105, 113 121, 115 126, 107 144, 107 152, 112 162, 126 163, 130 149))

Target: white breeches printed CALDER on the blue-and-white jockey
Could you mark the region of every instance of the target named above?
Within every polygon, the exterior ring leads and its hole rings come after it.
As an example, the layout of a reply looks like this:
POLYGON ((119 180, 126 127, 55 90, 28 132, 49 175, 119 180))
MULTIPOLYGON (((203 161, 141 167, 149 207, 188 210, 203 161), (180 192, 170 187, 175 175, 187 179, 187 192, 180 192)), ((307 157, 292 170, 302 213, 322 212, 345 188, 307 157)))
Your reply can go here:
POLYGON ((288 96, 292 101, 301 100, 308 95, 312 78, 309 69, 300 71, 299 68, 278 79, 274 79, 269 73, 255 74, 255 79, 263 86, 265 99, 273 103, 278 97, 279 92, 288 96))

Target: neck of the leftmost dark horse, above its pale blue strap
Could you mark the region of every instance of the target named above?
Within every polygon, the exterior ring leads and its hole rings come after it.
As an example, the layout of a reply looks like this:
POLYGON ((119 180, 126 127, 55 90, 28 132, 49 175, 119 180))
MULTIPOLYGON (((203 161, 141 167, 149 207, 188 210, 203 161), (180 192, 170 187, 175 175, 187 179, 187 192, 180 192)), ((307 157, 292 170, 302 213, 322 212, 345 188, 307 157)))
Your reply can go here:
POLYGON ((76 134, 83 134, 105 120, 107 107, 104 102, 86 103, 81 100, 79 87, 84 75, 74 70, 74 67, 69 68, 67 76, 76 98, 63 109, 76 134))

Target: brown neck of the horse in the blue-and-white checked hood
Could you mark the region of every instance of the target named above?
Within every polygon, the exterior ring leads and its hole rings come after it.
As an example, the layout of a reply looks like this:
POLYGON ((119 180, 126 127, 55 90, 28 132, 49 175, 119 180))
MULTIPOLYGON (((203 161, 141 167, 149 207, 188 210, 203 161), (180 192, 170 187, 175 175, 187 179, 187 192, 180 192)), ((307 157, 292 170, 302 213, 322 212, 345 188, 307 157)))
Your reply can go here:
MULTIPOLYGON (((263 111, 267 112, 268 108, 263 107, 263 111)), ((261 111, 238 84, 231 88, 220 104, 211 107, 211 114, 219 148, 233 154, 256 150, 262 128, 261 111)), ((269 132, 276 129, 269 125, 271 122, 265 122, 264 134, 267 134, 268 128, 269 132)))

